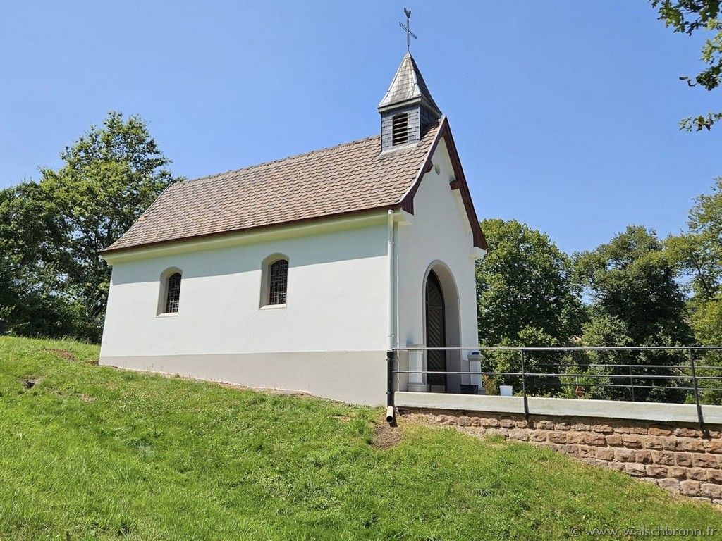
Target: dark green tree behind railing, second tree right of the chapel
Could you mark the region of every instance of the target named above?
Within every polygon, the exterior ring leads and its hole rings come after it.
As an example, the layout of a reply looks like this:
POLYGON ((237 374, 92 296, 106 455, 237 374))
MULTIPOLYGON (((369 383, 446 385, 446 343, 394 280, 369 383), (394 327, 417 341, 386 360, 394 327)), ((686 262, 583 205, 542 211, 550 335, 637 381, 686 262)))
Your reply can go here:
MULTIPOLYGON (((688 346, 693 336, 687 322, 684 291, 676 280, 674 262, 655 232, 627 226, 625 232, 591 252, 575 254, 575 279, 593 300, 591 321, 582 335, 584 346, 688 346)), ((675 401, 684 397, 674 387, 678 379, 645 376, 676 376, 675 364, 684 362, 669 351, 592 355, 591 364, 640 364, 635 400, 675 401), (656 368, 669 366, 669 368, 656 368)), ((610 366, 605 374, 615 384, 627 384, 629 369, 610 366)), ((614 397, 630 390, 609 390, 614 397)), ((629 395, 627 395, 629 397, 629 395)))

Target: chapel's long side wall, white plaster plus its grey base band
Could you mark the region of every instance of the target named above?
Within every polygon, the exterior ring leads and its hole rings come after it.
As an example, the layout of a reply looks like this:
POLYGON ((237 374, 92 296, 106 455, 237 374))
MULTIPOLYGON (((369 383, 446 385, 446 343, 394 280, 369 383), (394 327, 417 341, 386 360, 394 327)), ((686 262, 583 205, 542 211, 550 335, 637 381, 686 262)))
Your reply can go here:
POLYGON ((359 229, 115 263, 101 364, 385 400, 385 216, 359 229), (288 257, 285 307, 260 307, 261 263, 288 257), (157 315, 160 278, 182 271, 178 315, 157 315))

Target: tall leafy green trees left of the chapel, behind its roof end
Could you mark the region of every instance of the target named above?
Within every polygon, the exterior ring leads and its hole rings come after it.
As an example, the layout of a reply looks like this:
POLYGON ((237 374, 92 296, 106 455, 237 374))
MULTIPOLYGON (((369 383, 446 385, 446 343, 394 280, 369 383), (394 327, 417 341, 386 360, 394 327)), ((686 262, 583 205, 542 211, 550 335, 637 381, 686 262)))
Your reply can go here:
POLYGON ((40 182, 0 191, 0 315, 22 335, 100 340, 108 247, 175 179, 142 119, 109 113, 40 182))

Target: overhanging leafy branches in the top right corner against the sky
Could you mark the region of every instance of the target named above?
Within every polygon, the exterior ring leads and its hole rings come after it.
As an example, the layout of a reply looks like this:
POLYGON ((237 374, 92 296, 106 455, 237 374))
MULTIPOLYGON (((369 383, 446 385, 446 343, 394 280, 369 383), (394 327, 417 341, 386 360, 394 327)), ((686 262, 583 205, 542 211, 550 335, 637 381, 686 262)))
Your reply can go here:
MULTIPOLYGON (((702 87, 713 90, 722 83, 722 22, 718 20, 720 0, 650 0, 657 9, 659 19, 664 25, 672 27, 674 32, 692 35, 697 30, 715 32, 713 38, 705 40, 701 60, 708 65, 694 79, 682 76, 679 79, 690 87, 702 87)), ((722 113, 707 113, 680 121, 680 129, 697 131, 712 128, 722 120, 722 113)))

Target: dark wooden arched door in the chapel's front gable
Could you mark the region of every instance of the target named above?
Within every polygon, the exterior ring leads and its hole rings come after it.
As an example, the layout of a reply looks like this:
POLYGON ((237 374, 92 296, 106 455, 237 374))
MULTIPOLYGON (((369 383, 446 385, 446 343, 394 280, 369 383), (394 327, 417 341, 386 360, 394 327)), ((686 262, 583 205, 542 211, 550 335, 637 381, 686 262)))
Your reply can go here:
MULTIPOLYGON (((446 310, 444 292, 434 271, 426 279, 426 346, 446 347, 446 310)), ((426 357, 427 371, 446 371, 446 352, 429 350, 426 357)), ((429 374, 429 390, 446 392, 446 374, 429 374)))

